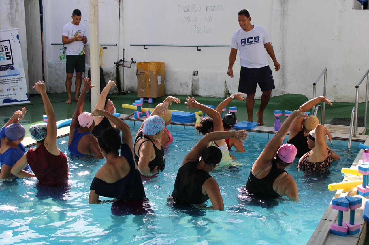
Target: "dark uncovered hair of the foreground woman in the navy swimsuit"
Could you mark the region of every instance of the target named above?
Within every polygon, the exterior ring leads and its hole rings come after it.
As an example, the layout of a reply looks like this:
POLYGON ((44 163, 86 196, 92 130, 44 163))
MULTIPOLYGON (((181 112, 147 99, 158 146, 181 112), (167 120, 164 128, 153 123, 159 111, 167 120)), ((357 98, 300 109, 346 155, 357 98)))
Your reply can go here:
POLYGON ((104 131, 97 136, 97 141, 106 154, 118 152, 122 145, 120 131, 118 128, 113 127, 104 129, 104 131))

